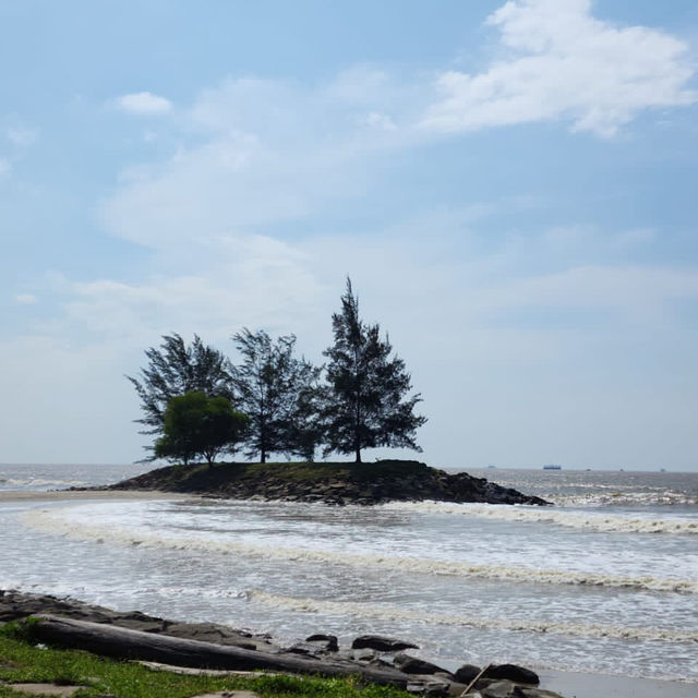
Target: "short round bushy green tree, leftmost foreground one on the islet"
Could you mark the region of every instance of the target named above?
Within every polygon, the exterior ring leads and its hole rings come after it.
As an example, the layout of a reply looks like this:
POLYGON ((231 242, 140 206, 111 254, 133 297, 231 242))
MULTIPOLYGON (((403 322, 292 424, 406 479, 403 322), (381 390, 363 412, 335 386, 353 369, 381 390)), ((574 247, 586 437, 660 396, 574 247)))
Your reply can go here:
POLYGON ((155 456, 186 465, 201 455, 212 465, 220 452, 234 450, 248 422, 225 397, 207 397, 201 390, 178 395, 165 410, 164 434, 155 442, 155 456))

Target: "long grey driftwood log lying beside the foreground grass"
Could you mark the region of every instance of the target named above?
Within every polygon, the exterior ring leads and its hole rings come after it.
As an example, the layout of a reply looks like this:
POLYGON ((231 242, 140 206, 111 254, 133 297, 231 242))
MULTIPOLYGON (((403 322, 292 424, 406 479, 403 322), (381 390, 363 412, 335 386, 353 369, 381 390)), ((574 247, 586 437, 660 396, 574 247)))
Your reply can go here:
POLYGON ((409 676, 398 671, 362 666, 349 661, 308 659, 288 652, 272 654, 55 615, 37 615, 34 618, 32 636, 36 640, 116 659, 137 659, 200 669, 272 670, 322 676, 353 675, 361 676, 366 682, 399 688, 405 688, 410 681, 409 676))

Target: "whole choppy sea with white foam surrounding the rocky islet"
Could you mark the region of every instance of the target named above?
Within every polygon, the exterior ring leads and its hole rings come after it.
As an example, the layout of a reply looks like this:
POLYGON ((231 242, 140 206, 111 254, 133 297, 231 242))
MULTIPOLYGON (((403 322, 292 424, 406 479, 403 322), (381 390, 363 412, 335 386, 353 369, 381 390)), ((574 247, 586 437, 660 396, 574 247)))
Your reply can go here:
MULTIPOLYGON (((145 469, 0 465, 0 492, 145 469)), ((388 635, 450 670, 513 662, 698 684, 698 473, 466 470, 554 506, 0 497, 0 589, 288 643, 388 635)))

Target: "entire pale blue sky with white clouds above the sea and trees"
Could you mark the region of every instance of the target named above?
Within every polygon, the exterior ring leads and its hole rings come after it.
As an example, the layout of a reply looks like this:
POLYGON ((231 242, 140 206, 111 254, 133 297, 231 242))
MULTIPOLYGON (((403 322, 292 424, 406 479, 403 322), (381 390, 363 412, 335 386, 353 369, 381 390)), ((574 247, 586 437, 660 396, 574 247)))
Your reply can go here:
POLYGON ((0 0, 0 461, 346 277, 455 467, 698 471, 695 0, 0 0))

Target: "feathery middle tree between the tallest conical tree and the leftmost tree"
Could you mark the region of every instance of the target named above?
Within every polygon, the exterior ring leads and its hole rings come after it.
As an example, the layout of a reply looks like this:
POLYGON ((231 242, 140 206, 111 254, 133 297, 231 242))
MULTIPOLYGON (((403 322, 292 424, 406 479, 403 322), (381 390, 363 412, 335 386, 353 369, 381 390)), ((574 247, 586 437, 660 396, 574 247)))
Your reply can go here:
POLYGON ((273 341, 245 327, 232 339, 242 356, 232 368, 237 405, 250 417, 246 454, 258 454, 262 462, 270 453, 306 457, 314 452, 309 424, 320 369, 294 357, 293 335, 273 341))

